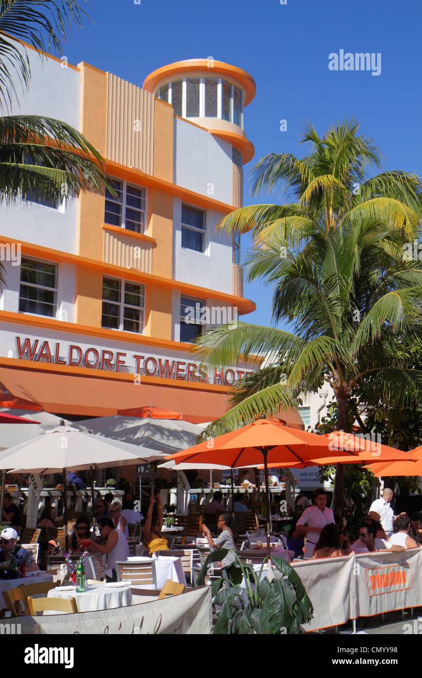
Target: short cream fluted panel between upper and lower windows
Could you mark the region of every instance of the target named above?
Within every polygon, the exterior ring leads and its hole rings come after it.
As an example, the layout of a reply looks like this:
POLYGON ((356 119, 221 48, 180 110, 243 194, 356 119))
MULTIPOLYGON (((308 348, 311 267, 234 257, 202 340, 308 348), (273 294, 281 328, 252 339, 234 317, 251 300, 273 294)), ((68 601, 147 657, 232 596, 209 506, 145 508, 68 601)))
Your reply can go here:
POLYGON ((152 273, 152 246, 153 243, 131 237, 124 229, 121 235, 104 231, 104 262, 152 273))

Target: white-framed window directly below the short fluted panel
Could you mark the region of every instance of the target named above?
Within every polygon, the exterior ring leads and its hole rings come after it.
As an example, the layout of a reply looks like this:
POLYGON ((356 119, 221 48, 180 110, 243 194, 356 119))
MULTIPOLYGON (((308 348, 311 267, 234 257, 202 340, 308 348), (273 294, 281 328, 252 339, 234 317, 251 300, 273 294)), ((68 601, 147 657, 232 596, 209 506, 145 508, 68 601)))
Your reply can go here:
POLYGON ((144 307, 144 285, 103 278, 102 327, 140 334, 144 331, 144 307))

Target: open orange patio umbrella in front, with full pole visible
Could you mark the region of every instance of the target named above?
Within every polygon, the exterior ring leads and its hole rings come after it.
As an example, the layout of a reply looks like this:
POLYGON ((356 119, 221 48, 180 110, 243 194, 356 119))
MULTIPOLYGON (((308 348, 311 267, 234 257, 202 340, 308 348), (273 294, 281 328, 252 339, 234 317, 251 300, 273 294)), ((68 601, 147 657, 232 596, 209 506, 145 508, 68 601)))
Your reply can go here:
MULTIPOLYGON (((314 457, 333 458, 329 440, 322 435, 299 431, 281 422, 259 419, 253 424, 211 438, 188 450, 177 452, 167 459, 180 462, 221 464, 231 468, 257 466, 263 461, 267 495, 267 556, 270 557, 270 492, 268 466, 282 462, 282 466, 294 466, 314 460, 314 457), (274 463, 273 463, 274 462, 274 463)), ((354 458, 356 452, 344 452, 343 456, 354 458)))

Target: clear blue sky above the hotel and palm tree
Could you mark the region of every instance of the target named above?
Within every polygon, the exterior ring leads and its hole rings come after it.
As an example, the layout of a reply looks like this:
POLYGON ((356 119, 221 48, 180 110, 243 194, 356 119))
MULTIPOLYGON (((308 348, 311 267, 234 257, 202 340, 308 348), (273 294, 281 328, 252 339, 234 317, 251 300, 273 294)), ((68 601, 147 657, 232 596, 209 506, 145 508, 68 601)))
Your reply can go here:
MULTIPOLYGON (((245 130, 255 145, 252 165, 268 153, 301 157, 305 119, 320 134, 337 119, 356 117, 377 142, 383 169, 422 174, 420 0, 91 0, 85 23, 68 40, 70 63, 88 62, 142 86, 165 64, 213 56, 244 68, 257 94, 245 108, 245 130), (381 53, 381 73, 329 71, 332 52, 381 53), (280 132, 280 120, 287 132, 280 132)), ((251 197, 245 205, 273 202, 251 197)), ((242 249, 249 238, 242 237, 242 249)), ((271 291, 245 285, 257 304, 243 319, 270 323, 271 291)))

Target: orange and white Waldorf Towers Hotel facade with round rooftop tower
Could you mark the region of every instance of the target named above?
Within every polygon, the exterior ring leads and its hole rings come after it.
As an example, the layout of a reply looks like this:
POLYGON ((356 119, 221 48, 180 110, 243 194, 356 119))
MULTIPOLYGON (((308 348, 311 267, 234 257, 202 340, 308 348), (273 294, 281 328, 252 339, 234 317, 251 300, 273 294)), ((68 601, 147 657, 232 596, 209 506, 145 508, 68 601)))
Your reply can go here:
POLYGON ((252 77, 188 60, 140 87, 28 51, 32 83, 13 113, 79 129, 115 194, 1 207, 3 391, 72 418, 148 403, 193 422, 221 416, 228 386, 258 364, 200 368, 190 340, 255 308, 240 242, 215 230, 242 205, 252 77), (187 323, 188 306, 211 317, 187 323))

